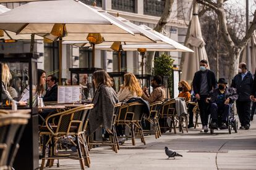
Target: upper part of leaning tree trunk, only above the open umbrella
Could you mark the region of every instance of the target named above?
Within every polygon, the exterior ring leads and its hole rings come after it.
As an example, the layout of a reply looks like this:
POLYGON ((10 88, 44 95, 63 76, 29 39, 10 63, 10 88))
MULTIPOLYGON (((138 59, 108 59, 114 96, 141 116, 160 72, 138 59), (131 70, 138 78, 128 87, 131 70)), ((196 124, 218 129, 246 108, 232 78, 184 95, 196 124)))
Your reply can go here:
POLYGON ((160 20, 158 21, 154 30, 161 32, 163 30, 163 26, 168 23, 169 17, 171 15, 171 7, 173 6, 174 0, 166 0, 164 4, 163 14, 161 15, 160 20))

